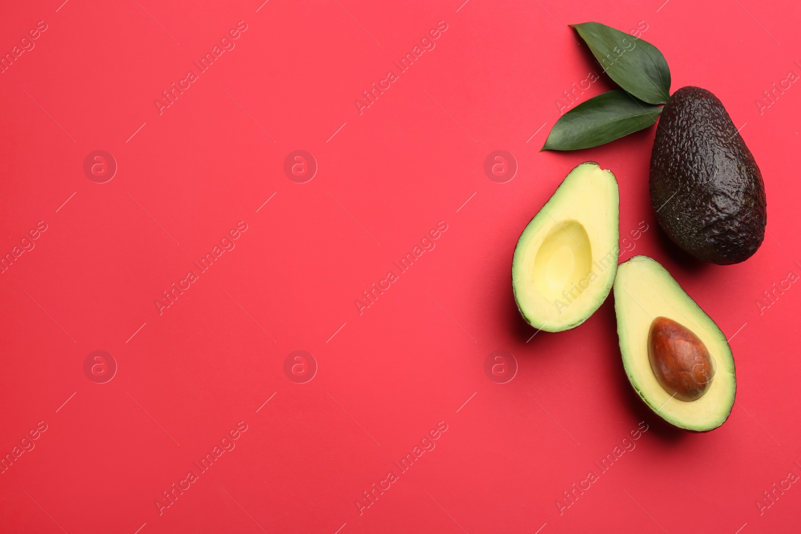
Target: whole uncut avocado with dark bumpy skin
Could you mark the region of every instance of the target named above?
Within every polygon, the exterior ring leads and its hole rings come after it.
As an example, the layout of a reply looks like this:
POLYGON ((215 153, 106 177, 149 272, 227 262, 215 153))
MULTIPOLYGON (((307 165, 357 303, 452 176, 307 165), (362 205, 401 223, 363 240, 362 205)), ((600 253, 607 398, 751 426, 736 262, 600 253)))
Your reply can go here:
POLYGON ((662 229, 698 259, 739 263, 765 237, 762 174, 723 102, 706 89, 682 87, 662 110, 650 196, 662 229))

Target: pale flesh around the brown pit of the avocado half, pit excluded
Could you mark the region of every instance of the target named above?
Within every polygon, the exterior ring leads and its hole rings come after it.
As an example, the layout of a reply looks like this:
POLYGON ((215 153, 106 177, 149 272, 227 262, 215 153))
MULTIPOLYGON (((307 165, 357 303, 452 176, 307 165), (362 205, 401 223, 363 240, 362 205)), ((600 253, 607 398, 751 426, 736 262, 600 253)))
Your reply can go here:
POLYGON ((726 336, 698 307, 670 273, 654 259, 634 256, 618 266, 614 281, 614 311, 626 375, 643 401, 678 428, 706 432, 718 428, 735 404, 735 359, 726 336), (709 351, 714 376, 695 400, 674 398, 662 388, 648 355, 651 323, 666 317, 697 335, 709 351))

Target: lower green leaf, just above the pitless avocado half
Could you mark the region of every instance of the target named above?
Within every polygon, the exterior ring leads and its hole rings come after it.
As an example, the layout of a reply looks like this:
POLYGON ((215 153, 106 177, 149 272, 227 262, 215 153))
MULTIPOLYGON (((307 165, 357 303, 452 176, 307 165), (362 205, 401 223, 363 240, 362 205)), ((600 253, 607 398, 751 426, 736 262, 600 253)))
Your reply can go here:
POLYGON ((610 90, 582 102, 557 120, 541 151, 598 147, 656 122, 662 107, 610 90))

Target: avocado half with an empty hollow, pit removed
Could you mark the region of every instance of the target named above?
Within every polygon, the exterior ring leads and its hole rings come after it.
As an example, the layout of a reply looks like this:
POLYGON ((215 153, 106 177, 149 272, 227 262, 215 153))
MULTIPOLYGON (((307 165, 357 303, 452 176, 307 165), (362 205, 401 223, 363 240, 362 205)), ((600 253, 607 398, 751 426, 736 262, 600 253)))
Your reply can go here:
POLYGON ((549 332, 578 327, 601 306, 618 267, 618 181, 585 162, 570 171, 517 239, 517 309, 549 332))

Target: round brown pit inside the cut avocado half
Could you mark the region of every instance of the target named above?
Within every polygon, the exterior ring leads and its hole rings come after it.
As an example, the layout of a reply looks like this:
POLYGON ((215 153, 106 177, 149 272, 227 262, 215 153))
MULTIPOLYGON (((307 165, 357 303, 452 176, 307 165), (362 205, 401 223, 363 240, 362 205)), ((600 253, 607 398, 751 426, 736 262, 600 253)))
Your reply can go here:
POLYGON ((659 385, 678 400, 700 399, 714 378, 714 365, 701 339, 666 317, 648 332, 648 360, 659 385))

